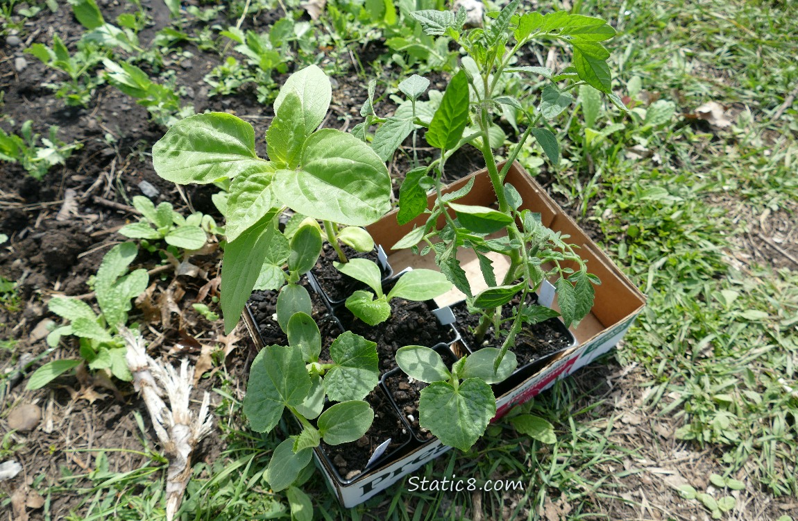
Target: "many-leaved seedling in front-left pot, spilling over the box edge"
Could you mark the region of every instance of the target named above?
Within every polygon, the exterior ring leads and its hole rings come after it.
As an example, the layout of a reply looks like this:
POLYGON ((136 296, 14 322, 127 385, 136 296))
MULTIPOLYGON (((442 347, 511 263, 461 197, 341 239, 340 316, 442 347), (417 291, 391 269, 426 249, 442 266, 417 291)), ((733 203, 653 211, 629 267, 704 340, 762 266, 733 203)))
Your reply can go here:
POLYGON ((322 439, 339 445, 368 431, 374 412, 363 399, 377 386, 380 374, 377 344, 353 332, 342 333, 330 345, 331 363, 320 363, 322 337, 310 317, 310 299, 302 300, 296 288, 304 290, 289 284, 280 292, 283 310, 289 300, 298 310, 287 322, 280 321, 289 345, 270 345, 259 352, 243 400, 244 414, 255 431, 271 432, 286 408, 302 425, 302 432, 282 441, 271 457, 265 477, 274 491, 294 483, 322 439), (338 403, 322 412, 326 400, 338 403))

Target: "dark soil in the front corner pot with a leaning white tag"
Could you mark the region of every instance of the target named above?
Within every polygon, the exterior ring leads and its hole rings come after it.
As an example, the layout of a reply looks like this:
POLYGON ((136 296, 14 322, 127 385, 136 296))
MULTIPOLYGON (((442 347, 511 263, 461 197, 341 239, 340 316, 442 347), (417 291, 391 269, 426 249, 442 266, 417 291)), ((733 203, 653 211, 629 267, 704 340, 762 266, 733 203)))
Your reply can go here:
POLYGON ((386 439, 390 438, 391 443, 383 457, 390 455, 410 439, 405 424, 397 416, 393 404, 381 388, 370 392, 365 401, 369 402, 374 411, 374 422, 361 439, 341 445, 328 445, 322 441, 322 451, 330 458, 333 467, 343 479, 357 477, 369 463, 374 449, 380 443, 385 443, 386 439))

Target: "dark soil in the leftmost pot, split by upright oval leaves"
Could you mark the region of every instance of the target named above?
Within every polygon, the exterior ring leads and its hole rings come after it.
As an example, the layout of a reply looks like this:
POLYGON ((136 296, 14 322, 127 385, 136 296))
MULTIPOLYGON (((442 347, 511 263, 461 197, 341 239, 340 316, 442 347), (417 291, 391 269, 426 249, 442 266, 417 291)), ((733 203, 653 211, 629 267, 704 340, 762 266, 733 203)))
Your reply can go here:
MULTIPOLYGON (((318 325, 318 331, 322 334, 322 361, 330 361, 330 344, 341 334, 341 326, 338 320, 330 314, 322 297, 310 288, 307 279, 303 279, 302 286, 310 294, 310 304, 313 307, 313 318, 318 325)), ((280 325, 275 319, 277 313, 276 291, 256 291, 252 292, 250 300, 247 301, 255 326, 258 328, 260 339, 264 346, 267 345, 288 345, 288 336, 282 332, 280 325)))

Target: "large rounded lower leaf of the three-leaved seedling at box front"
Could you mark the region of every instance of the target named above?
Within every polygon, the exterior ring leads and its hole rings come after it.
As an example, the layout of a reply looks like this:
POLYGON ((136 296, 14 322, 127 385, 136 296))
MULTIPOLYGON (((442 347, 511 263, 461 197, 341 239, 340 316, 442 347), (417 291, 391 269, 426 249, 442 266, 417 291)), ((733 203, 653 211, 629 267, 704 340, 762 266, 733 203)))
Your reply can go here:
POLYGON ((496 416, 496 398, 491 387, 477 378, 464 380, 458 388, 433 382, 421 389, 419 423, 441 443, 468 451, 496 416))

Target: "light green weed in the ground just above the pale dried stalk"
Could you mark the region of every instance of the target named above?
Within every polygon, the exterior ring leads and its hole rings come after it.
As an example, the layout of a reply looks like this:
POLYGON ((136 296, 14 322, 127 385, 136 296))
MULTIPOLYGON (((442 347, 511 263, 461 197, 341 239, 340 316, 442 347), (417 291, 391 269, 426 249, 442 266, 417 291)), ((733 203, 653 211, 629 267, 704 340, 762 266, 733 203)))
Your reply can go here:
POLYGON ((49 301, 49 310, 69 320, 69 324, 62 324, 50 332, 47 344, 55 347, 61 336, 77 336, 81 359, 53 360, 41 366, 30 376, 29 389, 44 387, 84 361, 89 369, 106 371, 120 380, 132 379, 124 360, 124 340, 118 331, 127 323, 130 300, 144 292, 149 282, 145 269, 125 274, 137 254, 135 244, 124 242, 114 246, 103 257, 94 277, 94 292, 101 310, 99 315, 89 304, 76 298, 56 296, 49 301))

